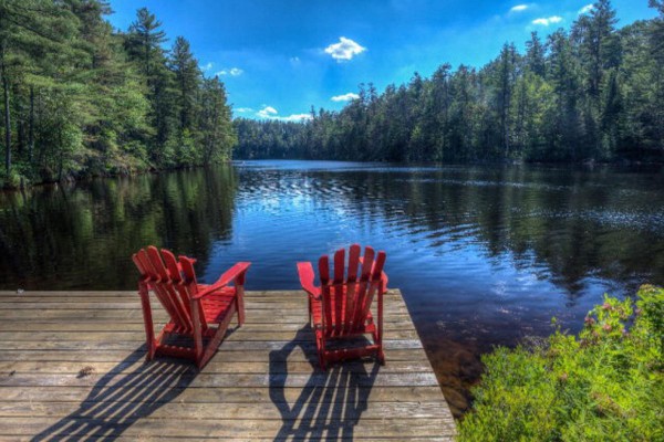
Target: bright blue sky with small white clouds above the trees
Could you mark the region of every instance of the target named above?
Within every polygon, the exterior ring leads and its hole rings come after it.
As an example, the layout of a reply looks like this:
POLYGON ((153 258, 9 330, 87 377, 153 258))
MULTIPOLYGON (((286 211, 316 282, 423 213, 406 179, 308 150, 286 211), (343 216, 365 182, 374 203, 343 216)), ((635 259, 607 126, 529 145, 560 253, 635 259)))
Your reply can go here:
MULTIPOLYGON (((169 42, 191 43, 208 76, 219 75, 235 116, 297 119, 340 109, 360 83, 429 76, 445 62, 481 66, 505 42, 569 29, 592 0, 112 0, 126 30, 146 7, 169 42)), ((619 27, 655 17, 647 0, 613 0, 619 27)))

